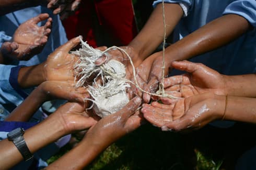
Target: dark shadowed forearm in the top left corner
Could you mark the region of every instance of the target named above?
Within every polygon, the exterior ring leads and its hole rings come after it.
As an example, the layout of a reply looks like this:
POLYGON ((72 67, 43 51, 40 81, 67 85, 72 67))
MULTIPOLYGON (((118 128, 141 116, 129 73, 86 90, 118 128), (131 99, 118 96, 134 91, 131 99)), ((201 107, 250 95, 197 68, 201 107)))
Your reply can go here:
POLYGON ((46 4, 46 1, 40 0, 10 0, 10 1, 0 1, 0 15, 8 14, 19 9, 24 9, 32 6, 38 6, 41 4, 46 4))

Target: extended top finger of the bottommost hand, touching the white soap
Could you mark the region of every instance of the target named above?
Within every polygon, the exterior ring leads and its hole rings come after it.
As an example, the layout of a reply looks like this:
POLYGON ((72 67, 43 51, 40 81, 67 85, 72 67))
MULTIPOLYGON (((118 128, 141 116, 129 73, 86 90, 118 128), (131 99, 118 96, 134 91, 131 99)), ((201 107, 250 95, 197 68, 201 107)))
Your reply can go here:
POLYGON ((124 122, 137 110, 137 108, 141 105, 142 99, 140 97, 135 97, 126 104, 126 106, 121 109, 118 113, 121 114, 124 122))

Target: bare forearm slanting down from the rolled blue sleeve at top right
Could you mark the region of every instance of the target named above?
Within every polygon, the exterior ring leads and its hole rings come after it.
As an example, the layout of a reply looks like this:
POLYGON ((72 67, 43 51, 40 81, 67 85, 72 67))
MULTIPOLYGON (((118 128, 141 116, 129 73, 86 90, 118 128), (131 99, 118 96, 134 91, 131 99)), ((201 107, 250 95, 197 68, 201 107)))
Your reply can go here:
POLYGON ((189 59, 228 44, 250 29, 238 15, 225 15, 204 25, 166 49, 167 62, 189 59))

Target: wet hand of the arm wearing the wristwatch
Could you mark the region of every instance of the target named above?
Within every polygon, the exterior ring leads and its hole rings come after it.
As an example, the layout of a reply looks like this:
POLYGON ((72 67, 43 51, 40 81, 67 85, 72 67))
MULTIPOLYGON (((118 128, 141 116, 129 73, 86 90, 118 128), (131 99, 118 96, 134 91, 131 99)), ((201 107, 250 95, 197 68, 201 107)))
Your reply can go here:
POLYGON ((88 129, 97 123, 97 119, 89 116, 85 106, 79 103, 67 102, 58 108, 48 119, 60 121, 64 127, 65 134, 75 130, 88 129))

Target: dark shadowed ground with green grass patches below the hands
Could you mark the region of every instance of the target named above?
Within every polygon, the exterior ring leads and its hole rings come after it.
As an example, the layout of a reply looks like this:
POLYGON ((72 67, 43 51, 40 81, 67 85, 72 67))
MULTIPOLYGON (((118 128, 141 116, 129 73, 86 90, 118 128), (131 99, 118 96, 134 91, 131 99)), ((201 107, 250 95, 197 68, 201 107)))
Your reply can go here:
MULTIPOLYGON (((161 132, 160 129, 149 124, 143 125, 113 143, 85 169, 219 169, 222 160, 209 158, 209 155, 189 145, 190 137, 190 135, 161 132)), ((62 149, 48 162, 60 158, 69 149, 71 148, 62 149)))

